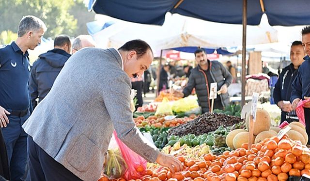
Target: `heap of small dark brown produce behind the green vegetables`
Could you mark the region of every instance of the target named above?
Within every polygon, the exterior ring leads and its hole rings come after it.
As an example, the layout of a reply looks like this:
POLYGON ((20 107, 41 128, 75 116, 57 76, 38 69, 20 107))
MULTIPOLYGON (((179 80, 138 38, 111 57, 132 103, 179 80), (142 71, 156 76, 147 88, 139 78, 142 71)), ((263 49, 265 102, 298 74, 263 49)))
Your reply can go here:
POLYGON ((231 126, 240 123, 240 117, 206 112, 193 121, 171 128, 169 135, 185 136, 188 134, 202 135, 215 131, 220 125, 231 126))

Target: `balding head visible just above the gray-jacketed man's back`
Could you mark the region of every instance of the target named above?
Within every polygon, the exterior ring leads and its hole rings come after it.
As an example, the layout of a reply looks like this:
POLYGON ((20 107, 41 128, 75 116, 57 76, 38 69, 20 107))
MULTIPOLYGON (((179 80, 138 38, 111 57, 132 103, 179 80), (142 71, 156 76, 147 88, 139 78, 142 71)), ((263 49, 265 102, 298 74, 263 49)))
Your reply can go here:
POLYGON ((91 35, 78 35, 72 43, 72 55, 85 47, 95 47, 95 42, 91 35))

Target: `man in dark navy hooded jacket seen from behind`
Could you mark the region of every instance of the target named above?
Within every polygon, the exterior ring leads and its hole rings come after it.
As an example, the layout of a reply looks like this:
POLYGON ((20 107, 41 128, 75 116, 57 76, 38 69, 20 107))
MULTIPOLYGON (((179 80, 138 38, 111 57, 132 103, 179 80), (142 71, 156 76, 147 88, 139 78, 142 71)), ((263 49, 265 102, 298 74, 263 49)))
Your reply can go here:
POLYGON ((54 81, 68 60, 71 51, 70 38, 59 35, 54 40, 54 49, 41 54, 31 69, 30 94, 33 109, 46 97, 54 81), (36 99, 39 99, 38 102, 36 99))

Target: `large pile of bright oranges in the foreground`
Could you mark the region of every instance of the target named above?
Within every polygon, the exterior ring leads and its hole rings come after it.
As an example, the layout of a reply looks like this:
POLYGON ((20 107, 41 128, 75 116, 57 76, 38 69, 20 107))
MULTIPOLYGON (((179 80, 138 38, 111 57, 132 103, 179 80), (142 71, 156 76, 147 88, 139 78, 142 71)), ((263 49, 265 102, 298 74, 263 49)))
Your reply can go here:
POLYGON ((165 167, 148 169, 136 181, 286 181, 289 176, 310 175, 310 150, 287 135, 247 148, 244 143, 242 148, 218 156, 206 154, 203 161, 180 156, 182 172, 172 174, 165 167))

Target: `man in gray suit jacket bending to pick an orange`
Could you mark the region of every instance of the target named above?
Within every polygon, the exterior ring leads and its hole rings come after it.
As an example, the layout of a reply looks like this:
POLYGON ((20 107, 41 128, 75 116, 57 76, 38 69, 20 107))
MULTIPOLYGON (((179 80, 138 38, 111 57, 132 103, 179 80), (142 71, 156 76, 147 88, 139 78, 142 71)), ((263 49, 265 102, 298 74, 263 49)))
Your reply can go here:
POLYGON ((71 56, 23 125, 31 181, 97 181, 114 129, 147 161, 180 171, 181 162, 160 153, 132 119, 130 77, 141 76, 152 60, 141 40, 118 51, 84 48, 71 56))

